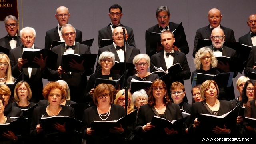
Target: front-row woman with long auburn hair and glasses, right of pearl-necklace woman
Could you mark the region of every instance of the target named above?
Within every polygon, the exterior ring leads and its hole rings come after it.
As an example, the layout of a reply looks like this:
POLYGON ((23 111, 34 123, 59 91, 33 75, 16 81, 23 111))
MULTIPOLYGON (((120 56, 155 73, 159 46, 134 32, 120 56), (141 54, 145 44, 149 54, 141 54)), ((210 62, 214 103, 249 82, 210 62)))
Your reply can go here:
MULTIPOLYGON (((167 127, 155 128, 151 125, 154 116, 169 121, 182 118, 178 104, 171 103, 169 99, 165 83, 160 79, 155 80, 148 91, 148 95, 148 104, 140 106, 135 126, 137 134, 142 136, 143 142, 146 144, 170 143, 170 140, 173 143, 179 142, 179 134, 182 134, 182 131, 167 127)), ((181 127, 185 132, 185 127, 181 127)))

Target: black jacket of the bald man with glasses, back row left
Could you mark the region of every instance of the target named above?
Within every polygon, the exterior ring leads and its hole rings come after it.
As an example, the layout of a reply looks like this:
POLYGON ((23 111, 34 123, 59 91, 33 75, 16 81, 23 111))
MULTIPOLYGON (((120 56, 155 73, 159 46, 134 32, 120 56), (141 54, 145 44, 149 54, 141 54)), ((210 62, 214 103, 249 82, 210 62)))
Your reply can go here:
MULTIPOLYGON (((45 34, 44 48, 50 49, 52 47, 52 41, 60 41, 60 35, 58 32, 58 26, 51 30, 48 30, 45 34)), ((76 42, 82 42, 82 32, 76 29, 76 42)))

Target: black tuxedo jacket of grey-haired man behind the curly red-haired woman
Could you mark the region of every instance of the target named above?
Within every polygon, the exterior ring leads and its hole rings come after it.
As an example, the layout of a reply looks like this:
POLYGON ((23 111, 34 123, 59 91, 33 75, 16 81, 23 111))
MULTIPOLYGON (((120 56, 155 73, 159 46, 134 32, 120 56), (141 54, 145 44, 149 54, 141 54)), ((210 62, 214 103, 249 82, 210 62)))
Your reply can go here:
MULTIPOLYGON (((52 51, 58 54, 57 66, 61 66, 61 59, 64 52, 66 52, 65 44, 60 44, 52 48, 52 51)), ((74 54, 91 54, 90 47, 76 42, 74 54)), ((81 72, 66 72, 58 76, 57 70, 46 69, 43 77, 48 78, 49 81, 64 80, 68 83, 70 88, 71 100, 78 102, 78 99, 84 95, 87 85, 87 76, 94 72, 93 68, 84 68, 83 74, 81 72)))

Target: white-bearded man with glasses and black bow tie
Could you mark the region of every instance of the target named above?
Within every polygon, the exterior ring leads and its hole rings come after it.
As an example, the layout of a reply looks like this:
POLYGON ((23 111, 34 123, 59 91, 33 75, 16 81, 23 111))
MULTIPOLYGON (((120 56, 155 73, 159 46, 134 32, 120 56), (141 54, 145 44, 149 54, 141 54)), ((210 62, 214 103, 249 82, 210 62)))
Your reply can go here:
MULTIPOLYGON (((209 46, 210 48, 212 48, 213 50, 213 54, 216 57, 219 56, 227 56, 227 57, 237 57, 236 54, 236 50, 233 50, 232 48, 226 47, 224 46, 224 40, 226 38, 225 34, 224 34, 224 30, 222 30, 221 28, 214 28, 212 30, 212 34, 210 36, 211 40, 212 40, 212 45, 209 46)), ((233 70, 232 68, 229 67, 228 63, 224 64, 223 62, 218 62, 218 66, 217 66, 217 70, 220 73, 223 72, 234 72, 234 76, 233 78, 235 78, 237 76, 237 72, 235 70, 233 70)), ((233 86, 233 81, 230 87, 226 87, 224 88, 225 91, 225 97, 219 97, 218 99, 222 99, 222 100, 233 100, 235 98, 235 92, 234 92, 234 86, 233 86)))

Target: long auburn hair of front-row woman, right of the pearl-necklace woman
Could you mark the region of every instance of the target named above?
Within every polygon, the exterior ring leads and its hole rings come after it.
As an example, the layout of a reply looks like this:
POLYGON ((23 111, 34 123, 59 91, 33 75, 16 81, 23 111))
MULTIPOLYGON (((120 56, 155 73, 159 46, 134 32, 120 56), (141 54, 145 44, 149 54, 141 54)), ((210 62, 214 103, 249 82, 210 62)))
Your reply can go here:
POLYGON ((170 100, 170 98, 169 98, 169 96, 168 96, 168 94, 167 94, 166 84, 164 83, 164 81, 162 81, 162 80, 160 80, 160 79, 157 79, 157 80, 155 80, 155 81, 152 83, 151 88, 150 88, 150 90, 148 91, 148 96, 149 96, 149 97, 148 97, 148 104, 149 104, 150 106, 153 106, 153 105, 156 104, 156 100, 155 100, 155 98, 154 98, 154 96, 153 96, 153 88, 154 88, 154 86, 159 86, 159 85, 162 85, 162 86, 164 87, 164 90, 165 90, 165 95, 164 95, 164 97, 163 97, 164 105, 166 105, 166 104, 168 104, 168 103, 171 104, 171 100, 170 100))

